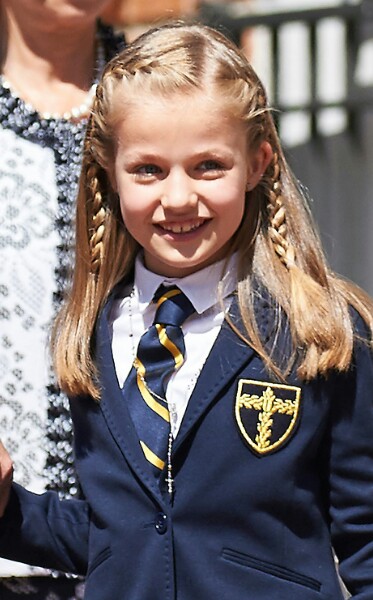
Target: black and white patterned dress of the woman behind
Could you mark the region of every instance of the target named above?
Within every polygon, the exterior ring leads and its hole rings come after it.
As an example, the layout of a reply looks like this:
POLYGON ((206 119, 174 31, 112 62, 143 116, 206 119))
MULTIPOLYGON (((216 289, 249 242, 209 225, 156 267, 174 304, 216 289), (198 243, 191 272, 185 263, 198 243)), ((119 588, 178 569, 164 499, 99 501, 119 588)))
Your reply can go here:
MULTIPOLYGON (((98 36, 105 60, 124 44, 101 24, 98 36)), ((79 486, 67 401, 54 383, 48 339, 72 264, 86 126, 87 118, 42 118, 0 76, 0 439, 17 482, 64 497, 76 497, 79 486)), ((82 597, 80 583, 47 575, 0 559, 1 600, 82 597), (56 591, 58 581, 65 592, 56 591)))

